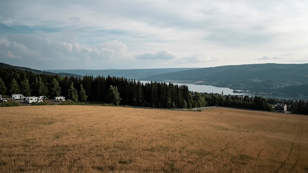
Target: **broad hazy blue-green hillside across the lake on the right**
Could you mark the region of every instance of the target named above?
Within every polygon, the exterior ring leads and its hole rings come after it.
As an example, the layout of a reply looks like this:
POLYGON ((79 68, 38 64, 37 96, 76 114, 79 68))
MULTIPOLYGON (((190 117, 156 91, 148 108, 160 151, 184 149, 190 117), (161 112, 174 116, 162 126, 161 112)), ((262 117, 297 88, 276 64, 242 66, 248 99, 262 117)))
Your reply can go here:
POLYGON ((228 65, 159 74, 141 80, 212 85, 255 93, 308 96, 308 89, 304 89, 308 85, 308 64, 228 65))

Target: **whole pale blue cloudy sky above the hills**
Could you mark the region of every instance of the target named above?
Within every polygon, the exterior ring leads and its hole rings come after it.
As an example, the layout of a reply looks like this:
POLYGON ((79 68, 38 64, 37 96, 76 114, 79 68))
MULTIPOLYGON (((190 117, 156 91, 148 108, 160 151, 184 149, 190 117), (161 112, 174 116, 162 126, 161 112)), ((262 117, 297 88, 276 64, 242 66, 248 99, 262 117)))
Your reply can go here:
POLYGON ((307 0, 0 0, 0 62, 43 69, 308 63, 307 0))

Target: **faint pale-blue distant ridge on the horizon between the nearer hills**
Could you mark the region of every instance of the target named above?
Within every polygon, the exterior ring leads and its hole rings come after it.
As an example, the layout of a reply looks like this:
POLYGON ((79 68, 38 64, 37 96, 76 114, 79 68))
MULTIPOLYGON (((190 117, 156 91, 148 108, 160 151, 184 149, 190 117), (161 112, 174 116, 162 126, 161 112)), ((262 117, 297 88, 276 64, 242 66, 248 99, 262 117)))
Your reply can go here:
POLYGON ((127 79, 141 79, 163 73, 178 72, 196 68, 153 68, 153 69, 107 69, 107 70, 46 70, 54 73, 72 73, 81 76, 115 76, 127 79))

